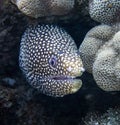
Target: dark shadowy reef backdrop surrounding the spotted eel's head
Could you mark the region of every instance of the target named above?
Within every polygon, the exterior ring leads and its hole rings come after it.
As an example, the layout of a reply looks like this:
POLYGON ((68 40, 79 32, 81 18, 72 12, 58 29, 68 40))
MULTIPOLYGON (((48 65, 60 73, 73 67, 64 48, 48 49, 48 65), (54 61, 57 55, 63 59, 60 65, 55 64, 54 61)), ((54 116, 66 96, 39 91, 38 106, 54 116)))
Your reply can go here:
POLYGON ((0 125, 119 125, 120 92, 103 91, 90 73, 83 73, 78 92, 62 98, 38 93, 28 85, 18 58, 21 36, 33 22, 63 27, 78 48, 86 33, 100 24, 89 16, 88 1, 70 17, 36 21, 9 0, 0 0, 0 125))

